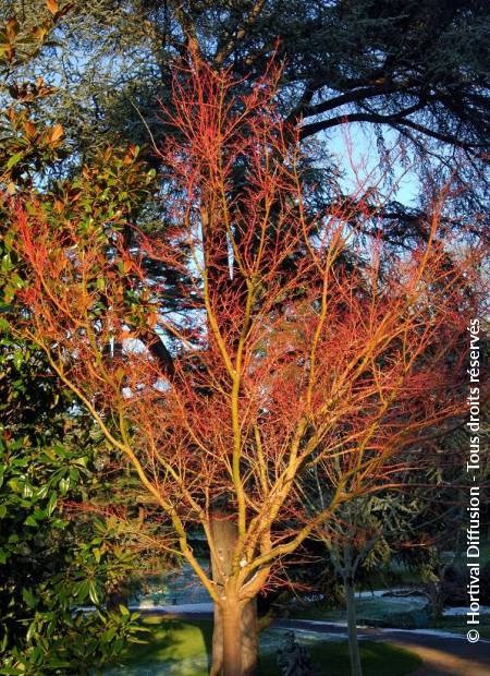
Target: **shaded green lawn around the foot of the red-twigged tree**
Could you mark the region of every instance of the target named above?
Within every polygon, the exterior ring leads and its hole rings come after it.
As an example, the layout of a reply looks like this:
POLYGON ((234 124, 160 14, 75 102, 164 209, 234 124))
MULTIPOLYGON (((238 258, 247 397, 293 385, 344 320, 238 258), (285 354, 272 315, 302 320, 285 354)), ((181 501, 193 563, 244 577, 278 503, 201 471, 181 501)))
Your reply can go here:
MULTIPOLYGON (((151 629, 148 643, 126 649, 121 663, 106 667, 103 676, 207 676, 211 645, 211 621, 183 621, 148 616, 151 629)), ((275 652, 283 630, 269 629, 261 636, 261 666, 267 676, 279 676, 275 652)), ((346 642, 326 640, 314 632, 297 632, 317 665, 328 664, 328 674, 350 676, 346 642)), ((421 661, 414 653, 387 643, 363 641, 365 676, 404 676, 417 669, 421 661)))

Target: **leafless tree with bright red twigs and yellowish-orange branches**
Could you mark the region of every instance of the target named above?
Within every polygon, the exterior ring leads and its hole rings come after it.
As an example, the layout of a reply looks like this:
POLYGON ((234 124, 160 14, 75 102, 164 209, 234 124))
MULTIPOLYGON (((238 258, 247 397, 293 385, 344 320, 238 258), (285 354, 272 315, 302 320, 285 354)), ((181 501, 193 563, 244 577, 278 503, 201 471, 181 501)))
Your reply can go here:
POLYGON ((220 620, 213 675, 256 673, 250 608, 283 558, 341 505, 399 485, 424 463, 425 435, 461 412, 475 311, 474 256, 449 266, 439 237, 443 197, 427 242, 400 255, 363 239, 377 209, 360 188, 314 213, 279 76, 271 65, 243 95, 199 60, 175 73, 160 236, 10 198, 15 331, 172 524, 220 620), (150 278, 149 261, 169 278, 150 278), (302 497, 313 471, 329 486, 315 512, 302 497), (211 571, 189 544, 196 527, 211 571))

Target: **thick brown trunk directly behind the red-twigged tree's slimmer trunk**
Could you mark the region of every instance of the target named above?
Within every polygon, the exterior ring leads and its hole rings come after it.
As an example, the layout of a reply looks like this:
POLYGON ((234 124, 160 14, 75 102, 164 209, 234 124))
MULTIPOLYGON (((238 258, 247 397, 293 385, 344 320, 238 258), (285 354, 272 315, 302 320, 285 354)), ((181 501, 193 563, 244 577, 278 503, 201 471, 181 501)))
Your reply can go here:
MULTIPOLYGON (((220 595, 224 595, 224 580, 220 570, 224 576, 231 574, 232 553, 236 543, 236 526, 226 520, 224 515, 218 515, 211 523, 212 538, 216 546, 216 554, 219 560, 215 560, 211 556, 212 579, 218 586, 220 595)), ((235 631, 236 627, 230 629, 228 624, 231 611, 223 611, 215 604, 215 617, 212 628, 212 665, 211 676, 228 676, 224 664, 224 645, 226 642, 226 632, 235 631)), ((240 676, 258 676, 258 620, 257 620, 257 601, 253 599, 243 608, 240 608, 237 619, 238 635, 235 637, 236 645, 240 648, 240 667, 237 672, 240 676)), ((234 623, 234 620, 233 620, 234 623)), ((233 624, 232 623, 232 624, 233 624)), ((228 665, 226 665, 228 668, 228 665)), ((234 672, 230 672, 230 674, 234 672)))

